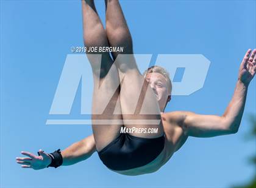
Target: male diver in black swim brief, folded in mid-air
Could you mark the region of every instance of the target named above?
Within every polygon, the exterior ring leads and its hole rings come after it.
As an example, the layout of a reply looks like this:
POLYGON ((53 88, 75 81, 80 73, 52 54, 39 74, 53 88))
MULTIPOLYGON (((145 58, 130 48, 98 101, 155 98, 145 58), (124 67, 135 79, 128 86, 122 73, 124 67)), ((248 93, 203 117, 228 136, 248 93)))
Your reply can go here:
POLYGON ((93 135, 62 151, 46 153, 39 150, 38 155, 21 152, 27 156, 16 158, 21 167, 38 170, 49 166, 68 166, 98 152, 108 169, 123 175, 141 175, 160 169, 182 147, 188 136, 207 138, 238 131, 247 89, 256 71, 256 49, 249 49, 244 55, 235 92, 222 116, 183 111, 165 113, 172 90, 168 73, 162 67, 153 66, 141 75, 133 57, 132 37, 119 2, 105 0, 105 6, 106 29, 94 2, 82 1, 85 46, 124 47, 123 52, 113 52, 112 56, 108 52, 87 52, 94 79, 93 135), (101 55, 101 61, 93 56, 95 54, 101 55), (118 59, 121 54, 127 56, 118 59), (117 90, 116 84, 120 86, 117 90), (101 92, 98 92, 98 86, 101 92), (97 115, 102 104, 109 98, 111 100, 104 113, 97 115), (107 119, 104 126, 95 123, 101 119, 107 119), (149 121, 152 119, 159 121, 152 123, 149 121), (124 127, 157 132, 121 133, 124 127))

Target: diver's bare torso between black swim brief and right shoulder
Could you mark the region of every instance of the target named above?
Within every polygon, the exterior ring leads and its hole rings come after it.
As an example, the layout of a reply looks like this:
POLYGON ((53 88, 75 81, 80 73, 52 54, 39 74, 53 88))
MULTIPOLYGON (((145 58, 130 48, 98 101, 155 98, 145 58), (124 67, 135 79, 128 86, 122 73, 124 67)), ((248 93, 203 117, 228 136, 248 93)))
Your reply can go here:
POLYGON ((129 170, 113 170, 114 172, 130 176, 155 172, 171 158, 174 152, 180 149, 180 147, 185 143, 188 138, 188 136, 185 135, 182 129, 182 125, 179 124, 179 122, 182 122, 182 113, 162 113, 161 116, 163 128, 165 131, 165 147, 163 148, 160 155, 158 155, 157 158, 155 158, 153 161, 151 161, 151 163, 146 164, 145 166, 129 170))

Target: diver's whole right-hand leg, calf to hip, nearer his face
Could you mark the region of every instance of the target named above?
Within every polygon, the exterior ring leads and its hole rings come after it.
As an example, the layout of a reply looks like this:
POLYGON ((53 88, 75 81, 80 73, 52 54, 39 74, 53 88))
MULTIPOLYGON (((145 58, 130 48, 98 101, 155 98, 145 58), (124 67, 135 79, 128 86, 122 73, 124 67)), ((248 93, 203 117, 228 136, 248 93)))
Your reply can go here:
POLYGON ((105 0, 105 3, 108 41, 111 46, 123 46, 123 54, 127 54, 122 57, 117 56, 118 53, 112 54, 122 79, 120 101, 124 125, 128 128, 158 129, 157 133, 132 133, 133 136, 144 138, 162 136, 163 126, 158 102, 154 92, 144 82, 144 78, 137 68, 132 50, 132 37, 121 6, 117 0, 105 0), (144 115, 129 115, 133 113, 143 113, 144 115), (137 120, 134 118, 137 118, 137 120), (154 123, 154 119, 158 121, 154 123))

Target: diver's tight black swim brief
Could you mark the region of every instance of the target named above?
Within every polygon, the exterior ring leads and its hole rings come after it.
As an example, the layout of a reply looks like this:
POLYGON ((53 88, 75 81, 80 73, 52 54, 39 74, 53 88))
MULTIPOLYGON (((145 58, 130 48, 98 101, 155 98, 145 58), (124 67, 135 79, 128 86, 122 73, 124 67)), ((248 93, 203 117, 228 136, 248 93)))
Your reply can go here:
POLYGON ((121 133, 98 152, 101 161, 112 170, 128 170, 153 161, 165 146, 165 136, 140 138, 121 133))

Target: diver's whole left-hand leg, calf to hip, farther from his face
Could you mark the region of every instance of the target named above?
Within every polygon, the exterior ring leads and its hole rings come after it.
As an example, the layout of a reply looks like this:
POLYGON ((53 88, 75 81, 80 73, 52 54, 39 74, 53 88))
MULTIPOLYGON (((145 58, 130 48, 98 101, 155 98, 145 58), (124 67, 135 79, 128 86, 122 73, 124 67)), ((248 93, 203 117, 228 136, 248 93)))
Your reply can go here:
MULTIPOLYGON (((90 47, 108 46, 107 35, 93 1, 82 1, 82 14, 84 44, 87 49, 90 47)), ((116 119, 119 119, 119 124, 120 121, 123 123, 121 107, 119 101, 117 101, 119 96, 119 76, 109 53, 87 53, 87 56, 93 69, 92 124, 96 148, 99 151, 119 135, 121 125, 116 125, 116 119), (95 57, 97 54, 102 55, 101 58, 95 57), (108 102, 109 99, 112 100, 108 102), (103 110, 103 115, 95 115, 102 113, 102 106, 106 102, 108 105, 103 110), (119 115, 113 116, 114 110, 119 115), (99 125, 99 121, 102 119, 108 119, 107 123, 102 125, 101 122, 101 125, 99 125)))

